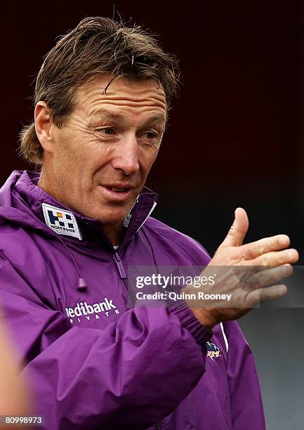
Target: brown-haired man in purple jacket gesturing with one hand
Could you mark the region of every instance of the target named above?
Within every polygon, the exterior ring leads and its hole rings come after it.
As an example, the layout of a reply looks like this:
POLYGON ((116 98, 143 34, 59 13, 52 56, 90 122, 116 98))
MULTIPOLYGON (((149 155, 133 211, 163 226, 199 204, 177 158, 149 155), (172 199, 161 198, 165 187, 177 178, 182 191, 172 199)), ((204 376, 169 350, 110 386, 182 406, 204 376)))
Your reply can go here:
POLYGON ((285 287, 261 280, 244 293, 234 283, 239 308, 152 307, 128 280, 130 266, 286 274, 298 259, 285 235, 242 245, 244 209, 212 261, 150 216, 157 195, 144 184, 176 82, 174 58, 154 39, 107 18, 62 37, 37 77, 21 149, 41 171, 14 171, 1 188, 0 286, 45 429, 265 428, 253 357, 233 320, 285 287))

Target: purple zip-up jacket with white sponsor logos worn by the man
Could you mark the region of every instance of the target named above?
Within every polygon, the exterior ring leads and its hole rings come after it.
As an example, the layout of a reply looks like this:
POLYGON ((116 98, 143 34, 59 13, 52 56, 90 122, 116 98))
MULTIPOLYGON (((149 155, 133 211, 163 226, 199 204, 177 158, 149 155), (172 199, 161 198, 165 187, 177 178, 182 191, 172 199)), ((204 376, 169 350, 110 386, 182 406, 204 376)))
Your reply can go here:
POLYGON ((235 321, 190 308, 128 308, 128 266, 202 266, 209 256, 148 217, 144 188, 115 252, 100 223, 13 171, 0 190, 0 300, 44 429, 260 430, 251 350, 235 321), (46 225, 48 224, 48 225, 46 225))

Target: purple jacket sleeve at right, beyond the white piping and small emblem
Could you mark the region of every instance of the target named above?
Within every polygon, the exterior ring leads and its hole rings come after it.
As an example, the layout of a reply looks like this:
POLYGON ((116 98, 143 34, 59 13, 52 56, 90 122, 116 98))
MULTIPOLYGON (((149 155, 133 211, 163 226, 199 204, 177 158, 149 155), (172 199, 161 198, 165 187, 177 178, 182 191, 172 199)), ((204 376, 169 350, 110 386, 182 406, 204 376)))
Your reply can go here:
POLYGON ((233 430, 264 430, 265 417, 253 354, 236 321, 223 323, 233 430))

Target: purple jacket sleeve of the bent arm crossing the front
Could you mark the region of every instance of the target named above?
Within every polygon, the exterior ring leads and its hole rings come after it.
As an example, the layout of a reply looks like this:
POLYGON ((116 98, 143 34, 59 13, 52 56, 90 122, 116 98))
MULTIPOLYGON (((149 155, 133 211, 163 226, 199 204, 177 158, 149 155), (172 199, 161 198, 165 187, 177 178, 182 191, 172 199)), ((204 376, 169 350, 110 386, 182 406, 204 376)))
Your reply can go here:
POLYGON ((199 344, 212 332, 186 306, 130 309, 104 330, 71 327, 2 256, 0 300, 45 429, 146 429, 204 373, 199 344))

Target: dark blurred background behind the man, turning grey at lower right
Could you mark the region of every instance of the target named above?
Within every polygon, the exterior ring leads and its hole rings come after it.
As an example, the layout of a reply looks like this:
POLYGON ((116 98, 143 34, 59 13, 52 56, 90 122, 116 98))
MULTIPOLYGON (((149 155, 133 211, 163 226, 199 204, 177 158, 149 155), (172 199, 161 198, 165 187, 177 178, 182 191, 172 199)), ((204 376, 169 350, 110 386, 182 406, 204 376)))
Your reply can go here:
MULTIPOLYGON (((160 194, 153 216, 213 254, 242 206, 246 240, 286 233, 303 264, 303 1, 27 1, 1 9, 1 184, 13 169, 31 169, 18 157, 18 133, 32 120, 32 82, 55 37, 114 12, 159 34, 182 70, 147 181, 160 194)), ((303 317, 303 307, 262 306, 240 320, 269 430, 304 428, 303 317)))

